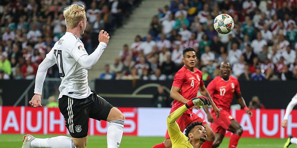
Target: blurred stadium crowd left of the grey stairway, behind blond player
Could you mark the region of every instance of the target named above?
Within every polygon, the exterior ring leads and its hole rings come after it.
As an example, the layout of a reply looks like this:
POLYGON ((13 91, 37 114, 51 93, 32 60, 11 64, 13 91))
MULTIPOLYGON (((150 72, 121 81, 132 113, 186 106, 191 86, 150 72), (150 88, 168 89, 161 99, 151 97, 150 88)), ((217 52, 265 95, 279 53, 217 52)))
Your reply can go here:
MULTIPOLYGON (((121 27, 141 0, 1 0, 0 79, 34 79, 38 65, 66 32, 63 9, 83 4, 87 25, 80 36, 91 54, 104 29, 109 34, 121 27)), ((49 77, 59 77, 55 65, 49 77)))

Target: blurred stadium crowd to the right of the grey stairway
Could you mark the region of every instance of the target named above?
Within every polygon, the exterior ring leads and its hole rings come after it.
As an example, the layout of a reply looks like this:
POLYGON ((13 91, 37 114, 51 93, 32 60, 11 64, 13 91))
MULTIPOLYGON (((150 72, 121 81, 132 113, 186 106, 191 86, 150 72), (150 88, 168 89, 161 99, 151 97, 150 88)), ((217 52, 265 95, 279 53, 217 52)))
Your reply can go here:
POLYGON ((172 0, 158 9, 145 37, 125 44, 119 58, 105 65, 101 79, 172 79, 182 67, 182 50, 197 52, 203 80, 219 75, 228 61, 239 80, 297 78, 296 0, 172 0), (225 35, 214 30, 213 20, 229 14, 234 29, 225 35))

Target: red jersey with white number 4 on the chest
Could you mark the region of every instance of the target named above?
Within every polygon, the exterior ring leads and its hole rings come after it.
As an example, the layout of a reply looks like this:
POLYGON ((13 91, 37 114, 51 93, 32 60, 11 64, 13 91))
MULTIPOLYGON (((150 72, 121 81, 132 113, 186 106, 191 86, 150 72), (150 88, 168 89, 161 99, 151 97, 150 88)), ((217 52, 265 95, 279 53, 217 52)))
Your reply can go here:
MULTIPOLYGON (((195 72, 188 70, 186 67, 182 67, 174 76, 172 86, 180 88, 179 94, 185 99, 191 100, 197 96, 198 89, 203 86, 202 72, 195 68, 195 72)), ((184 103, 173 101, 170 113, 174 112, 178 107, 181 107, 184 103)), ((185 114, 193 114, 192 108, 185 111, 185 114)))

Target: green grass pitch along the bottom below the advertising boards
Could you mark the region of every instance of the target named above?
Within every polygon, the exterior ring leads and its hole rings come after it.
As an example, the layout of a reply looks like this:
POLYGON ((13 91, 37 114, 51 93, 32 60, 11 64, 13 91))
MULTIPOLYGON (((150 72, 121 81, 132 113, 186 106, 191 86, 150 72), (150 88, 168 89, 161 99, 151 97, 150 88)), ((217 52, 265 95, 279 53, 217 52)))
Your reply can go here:
MULTIPOLYGON (((33 135, 37 138, 48 138, 57 135, 33 135)), ((0 147, 20 148, 22 146, 23 135, 1 134, 0 147)), ((164 137, 135 137, 123 136, 120 148, 151 148, 155 144, 161 143, 164 137)), ((237 148, 282 148, 286 139, 273 138, 241 138, 237 148)), ((225 138, 219 148, 228 148, 229 138, 225 138)), ((87 148, 106 148, 106 136, 89 136, 87 148)), ((290 145, 290 148, 297 148, 290 145)))

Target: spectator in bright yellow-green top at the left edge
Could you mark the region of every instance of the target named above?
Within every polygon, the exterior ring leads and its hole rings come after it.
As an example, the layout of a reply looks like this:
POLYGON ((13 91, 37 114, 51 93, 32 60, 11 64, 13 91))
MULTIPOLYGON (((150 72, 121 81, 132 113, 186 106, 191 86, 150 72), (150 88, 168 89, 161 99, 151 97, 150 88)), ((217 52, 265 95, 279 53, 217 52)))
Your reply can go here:
POLYGON ((1 78, 0 79, 9 79, 11 75, 11 64, 10 61, 7 59, 6 54, 2 54, 1 61, 0 61, 0 71, 1 71, 1 78))

